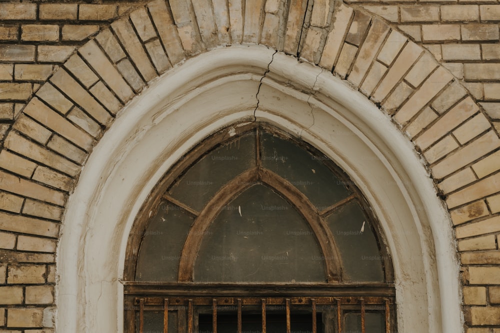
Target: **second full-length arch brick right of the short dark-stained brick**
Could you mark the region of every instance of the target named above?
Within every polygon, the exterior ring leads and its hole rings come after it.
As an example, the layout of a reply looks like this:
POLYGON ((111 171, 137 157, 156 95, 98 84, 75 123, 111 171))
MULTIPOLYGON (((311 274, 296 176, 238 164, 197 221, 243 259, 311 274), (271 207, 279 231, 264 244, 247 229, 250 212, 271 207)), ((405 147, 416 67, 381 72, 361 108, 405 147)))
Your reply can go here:
POLYGON ((414 43, 406 44, 394 61, 394 64, 389 68, 387 74, 376 88, 372 95, 372 99, 375 102, 383 100, 421 53, 422 49, 418 45, 414 43))

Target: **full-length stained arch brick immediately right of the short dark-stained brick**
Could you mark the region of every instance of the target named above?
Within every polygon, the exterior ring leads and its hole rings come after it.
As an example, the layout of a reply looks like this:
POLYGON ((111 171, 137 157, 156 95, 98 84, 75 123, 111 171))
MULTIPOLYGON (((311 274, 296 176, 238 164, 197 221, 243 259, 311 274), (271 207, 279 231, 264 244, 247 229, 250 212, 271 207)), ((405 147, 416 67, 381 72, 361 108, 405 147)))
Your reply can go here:
POLYGON ((388 27, 382 21, 375 19, 368 31, 368 35, 359 50, 359 54, 347 78, 355 86, 359 86, 373 61, 376 52, 388 33, 388 27))

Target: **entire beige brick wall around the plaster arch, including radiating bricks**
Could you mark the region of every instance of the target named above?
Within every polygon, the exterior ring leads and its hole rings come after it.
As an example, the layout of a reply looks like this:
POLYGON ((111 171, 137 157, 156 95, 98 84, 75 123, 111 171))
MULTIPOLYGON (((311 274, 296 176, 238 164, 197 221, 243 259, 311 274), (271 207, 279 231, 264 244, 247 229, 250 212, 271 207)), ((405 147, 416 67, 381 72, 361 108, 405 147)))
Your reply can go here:
POLYGON ((0 332, 53 332, 61 216, 116 113, 184 59, 243 42, 321 66, 392 116, 449 209, 466 332, 500 333, 499 7, 1 2, 0 332))

